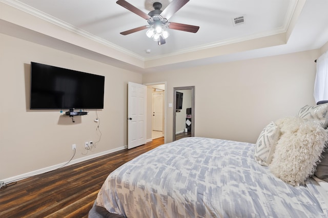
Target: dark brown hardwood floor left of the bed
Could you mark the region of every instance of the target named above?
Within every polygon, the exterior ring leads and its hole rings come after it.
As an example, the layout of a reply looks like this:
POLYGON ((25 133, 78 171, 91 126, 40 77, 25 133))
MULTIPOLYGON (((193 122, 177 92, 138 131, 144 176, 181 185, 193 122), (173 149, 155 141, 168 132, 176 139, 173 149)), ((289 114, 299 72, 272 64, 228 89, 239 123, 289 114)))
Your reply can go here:
POLYGON ((0 189, 0 217, 88 217, 107 176, 164 138, 55 171, 19 180, 0 189))

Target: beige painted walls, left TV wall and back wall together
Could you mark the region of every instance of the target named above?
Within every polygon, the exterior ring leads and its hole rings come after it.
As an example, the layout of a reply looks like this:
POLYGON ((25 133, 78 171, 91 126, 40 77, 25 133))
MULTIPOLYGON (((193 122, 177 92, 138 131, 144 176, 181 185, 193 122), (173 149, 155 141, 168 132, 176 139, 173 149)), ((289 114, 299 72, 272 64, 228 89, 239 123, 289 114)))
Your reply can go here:
MULTIPOLYGON (((0 180, 122 149, 127 144, 127 82, 166 82, 167 142, 172 141, 173 87, 195 86, 195 136, 255 142, 271 120, 315 104, 317 59, 313 50, 231 63, 140 75, 46 46, 0 34, 0 180), (30 62, 104 75, 105 108, 70 117, 57 110, 29 110, 30 62), (118 94, 119 93, 119 94, 118 94)), ((8 182, 8 181, 7 181, 8 182)))

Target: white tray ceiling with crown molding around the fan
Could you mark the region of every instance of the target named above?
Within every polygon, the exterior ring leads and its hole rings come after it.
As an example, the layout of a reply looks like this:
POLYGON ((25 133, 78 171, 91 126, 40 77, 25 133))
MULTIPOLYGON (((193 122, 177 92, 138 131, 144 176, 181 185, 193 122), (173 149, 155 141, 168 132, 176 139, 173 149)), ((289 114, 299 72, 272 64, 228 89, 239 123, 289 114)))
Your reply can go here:
MULTIPOLYGON (((146 13, 146 6, 149 8, 153 2, 165 7, 168 1, 127 0, 146 13)), ((163 45, 149 39, 146 30, 127 36, 119 34, 147 25, 147 21, 114 0, 0 2, 117 52, 106 54, 91 45, 58 37, 50 25, 42 30, 20 25, 22 21, 10 15, 0 15, 0 32, 31 41, 37 38, 38 43, 138 72, 319 49, 328 41, 327 0, 191 0, 169 21, 199 26, 199 31, 169 30, 170 36, 163 45), (245 22, 234 25, 233 18, 239 16, 244 16, 245 22)))

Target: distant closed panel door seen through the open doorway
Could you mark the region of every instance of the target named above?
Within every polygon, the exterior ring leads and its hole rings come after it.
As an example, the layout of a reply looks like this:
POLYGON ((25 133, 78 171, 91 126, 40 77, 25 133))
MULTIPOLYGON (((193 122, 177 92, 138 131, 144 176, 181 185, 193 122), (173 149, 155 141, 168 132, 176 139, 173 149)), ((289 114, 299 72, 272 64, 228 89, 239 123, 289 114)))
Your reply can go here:
POLYGON ((153 130, 163 130, 163 94, 153 93, 153 130))

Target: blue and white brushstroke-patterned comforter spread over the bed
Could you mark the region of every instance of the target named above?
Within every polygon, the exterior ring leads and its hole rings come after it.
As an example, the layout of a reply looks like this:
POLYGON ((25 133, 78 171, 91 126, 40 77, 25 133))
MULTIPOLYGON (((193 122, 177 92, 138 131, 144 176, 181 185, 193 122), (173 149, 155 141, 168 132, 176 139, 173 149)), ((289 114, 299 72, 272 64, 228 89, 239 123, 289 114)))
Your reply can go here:
POLYGON ((318 183, 284 183, 255 162, 254 148, 200 137, 163 144, 111 173, 97 205, 128 218, 328 217, 318 183))

